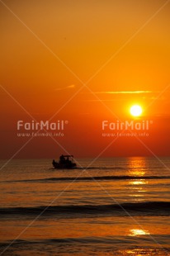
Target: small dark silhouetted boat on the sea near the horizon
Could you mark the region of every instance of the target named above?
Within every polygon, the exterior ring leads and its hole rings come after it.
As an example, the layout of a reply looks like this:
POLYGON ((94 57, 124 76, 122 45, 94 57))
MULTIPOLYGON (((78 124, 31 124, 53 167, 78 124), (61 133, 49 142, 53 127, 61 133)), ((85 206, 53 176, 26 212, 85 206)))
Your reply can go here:
POLYGON ((65 169, 65 168, 71 169, 71 168, 77 167, 77 164, 74 163, 72 154, 66 154, 66 155, 62 154, 59 157, 59 162, 56 162, 53 159, 52 164, 53 164, 54 168, 56 168, 56 169, 65 169))

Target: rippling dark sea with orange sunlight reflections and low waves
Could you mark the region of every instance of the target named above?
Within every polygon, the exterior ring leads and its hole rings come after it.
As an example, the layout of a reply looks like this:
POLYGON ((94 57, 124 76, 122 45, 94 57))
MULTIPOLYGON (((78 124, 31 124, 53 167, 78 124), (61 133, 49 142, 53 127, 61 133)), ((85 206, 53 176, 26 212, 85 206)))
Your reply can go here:
POLYGON ((170 255, 170 158, 0 161, 1 255, 170 255))

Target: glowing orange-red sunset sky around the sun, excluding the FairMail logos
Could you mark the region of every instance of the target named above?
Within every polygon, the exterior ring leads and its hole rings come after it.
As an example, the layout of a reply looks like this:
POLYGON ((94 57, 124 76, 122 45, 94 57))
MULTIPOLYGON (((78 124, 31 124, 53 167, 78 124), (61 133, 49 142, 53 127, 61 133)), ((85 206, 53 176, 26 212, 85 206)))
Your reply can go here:
POLYGON ((0 157, 29 140, 17 137, 18 120, 56 112, 51 121, 68 121, 63 149, 33 138, 15 157, 169 155, 169 13, 165 0, 0 1, 0 157), (134 103, 153 121, 149 136, 106 149, 102 121, 133 119, 134 103))

